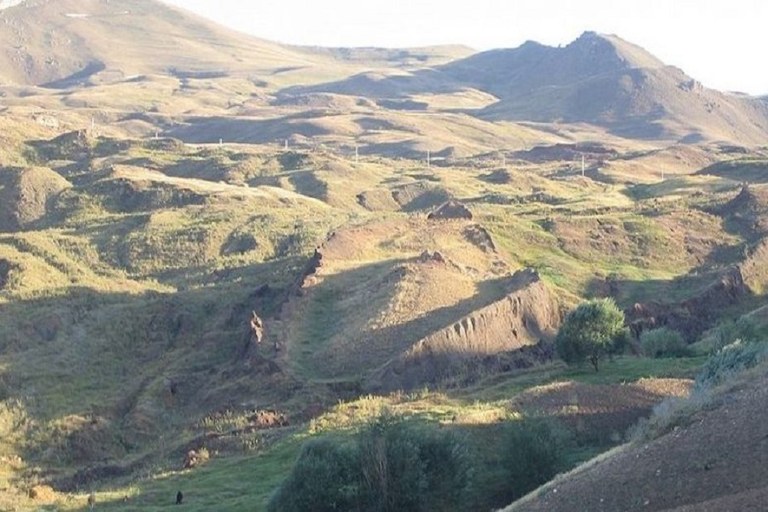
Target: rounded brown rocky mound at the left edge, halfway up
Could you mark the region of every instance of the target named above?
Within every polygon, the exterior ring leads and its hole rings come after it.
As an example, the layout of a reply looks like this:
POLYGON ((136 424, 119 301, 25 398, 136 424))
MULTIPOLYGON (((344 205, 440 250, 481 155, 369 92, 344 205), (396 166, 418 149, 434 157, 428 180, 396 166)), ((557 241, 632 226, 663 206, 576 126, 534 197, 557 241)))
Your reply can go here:
POLYGON ((0 231, 16 231, 42 219, 51 199, 71 185, 45 167, 3 169, 0 174, 0 231))

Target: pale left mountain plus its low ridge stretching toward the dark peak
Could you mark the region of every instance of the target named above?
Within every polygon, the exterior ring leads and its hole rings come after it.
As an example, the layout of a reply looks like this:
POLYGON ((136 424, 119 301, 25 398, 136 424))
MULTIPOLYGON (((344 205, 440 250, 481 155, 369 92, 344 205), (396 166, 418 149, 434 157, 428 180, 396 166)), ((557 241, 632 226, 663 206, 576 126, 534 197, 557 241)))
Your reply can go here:
POLYGON ((443 63, 462 47, 343 51, 281 45, 229 30, 157 0, 26 0, 0 7, 0 69, 7 81, 66 87, 138 74, 290 75, 310 81, 384 66, 443 63))

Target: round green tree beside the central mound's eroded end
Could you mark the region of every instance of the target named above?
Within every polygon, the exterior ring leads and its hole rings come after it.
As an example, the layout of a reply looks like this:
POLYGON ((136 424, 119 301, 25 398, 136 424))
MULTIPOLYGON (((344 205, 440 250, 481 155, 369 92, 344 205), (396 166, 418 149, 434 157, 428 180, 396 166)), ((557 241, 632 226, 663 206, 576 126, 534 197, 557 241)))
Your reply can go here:
POLYGON ((628 336, 624 313, 613 299, 595 299, 579 304, 565 317, 555 347, 566 363, 589 360, 598 371, 600 359, 621 352, 628 336))

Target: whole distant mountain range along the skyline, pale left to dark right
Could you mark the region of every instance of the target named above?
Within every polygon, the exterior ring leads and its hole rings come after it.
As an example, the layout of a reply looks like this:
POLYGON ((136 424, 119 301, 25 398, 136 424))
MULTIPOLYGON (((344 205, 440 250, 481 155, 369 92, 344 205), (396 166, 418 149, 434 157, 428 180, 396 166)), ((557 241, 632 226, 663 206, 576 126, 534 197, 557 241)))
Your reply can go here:
MULTIPOLYGON (((0 81, 67 88, 137 74, 266 77, 278 101, 333 93, 385 109, 429 107, 424 96, 485 95, 487 121, 587 123, 627 138, 762 144, 765 98, 702 86, 619 37, 585 32, 554 48, 527 42, 472 54, 463 47, 294 47, 228 30, 156 0, 6 0, 0 81)), ((308 102, 311 103, 311 102, 308 102)))

